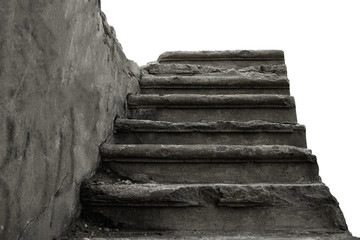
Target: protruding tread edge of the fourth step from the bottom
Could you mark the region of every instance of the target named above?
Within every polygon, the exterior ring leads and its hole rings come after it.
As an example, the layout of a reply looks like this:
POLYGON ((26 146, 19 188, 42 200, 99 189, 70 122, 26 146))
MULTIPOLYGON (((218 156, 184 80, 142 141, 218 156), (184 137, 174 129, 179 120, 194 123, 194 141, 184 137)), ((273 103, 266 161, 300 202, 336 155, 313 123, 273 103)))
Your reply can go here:
POLYGON ((194 107, 281 107, 295 108, 292 96, 276 94, 130 94, 128 107, 137 106, 194 106, 194 107))

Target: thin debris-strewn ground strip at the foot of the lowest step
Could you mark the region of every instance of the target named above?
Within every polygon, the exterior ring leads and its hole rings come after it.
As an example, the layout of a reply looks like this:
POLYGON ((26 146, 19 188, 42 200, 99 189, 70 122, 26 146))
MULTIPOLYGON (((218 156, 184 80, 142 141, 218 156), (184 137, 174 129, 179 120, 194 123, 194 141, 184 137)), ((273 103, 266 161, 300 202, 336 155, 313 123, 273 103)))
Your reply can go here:
POLYGON ((256 231, 256 232, 201 232, 201 231, 138 231, 104 227, 83 218, 75 220, 56 240, 360 240, 348 231, 256 231))

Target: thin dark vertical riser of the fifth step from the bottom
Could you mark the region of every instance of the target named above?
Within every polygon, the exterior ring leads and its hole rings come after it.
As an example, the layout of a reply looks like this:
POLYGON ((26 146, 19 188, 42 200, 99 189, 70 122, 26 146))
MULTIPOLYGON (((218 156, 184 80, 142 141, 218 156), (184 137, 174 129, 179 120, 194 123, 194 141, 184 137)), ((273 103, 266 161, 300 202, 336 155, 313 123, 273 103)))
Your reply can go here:
POLYGON ((281 88, 141 88, 142 94, 281 94, 290 95, 289 89, 281 88))

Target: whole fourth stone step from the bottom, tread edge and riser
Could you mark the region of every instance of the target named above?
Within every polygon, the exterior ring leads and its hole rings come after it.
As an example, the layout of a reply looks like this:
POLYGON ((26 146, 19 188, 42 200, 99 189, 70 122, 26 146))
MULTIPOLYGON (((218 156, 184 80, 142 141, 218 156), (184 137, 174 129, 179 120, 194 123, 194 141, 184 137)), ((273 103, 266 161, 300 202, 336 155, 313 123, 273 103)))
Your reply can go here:
POLYGON ((294 98, 287 95, 131 94, 127 100, 128 118, 170 122, 297 122, 294 98))

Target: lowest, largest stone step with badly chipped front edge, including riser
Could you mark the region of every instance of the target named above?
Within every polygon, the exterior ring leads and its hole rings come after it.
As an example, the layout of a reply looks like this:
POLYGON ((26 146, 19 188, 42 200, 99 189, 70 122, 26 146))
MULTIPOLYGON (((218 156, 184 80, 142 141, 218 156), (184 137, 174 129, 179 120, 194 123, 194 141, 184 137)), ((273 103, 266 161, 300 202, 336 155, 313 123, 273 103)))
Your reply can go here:
POLYGON ((346 231, 323 184, 120 184, 85 182, 85 218, 121 229, 346 231), (106 221, 105 221, 106 220, 106 221))

